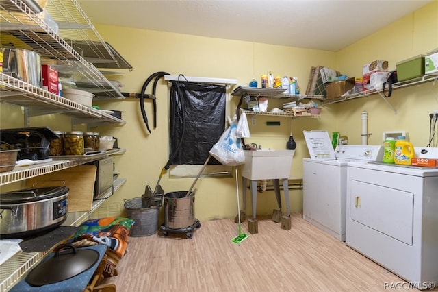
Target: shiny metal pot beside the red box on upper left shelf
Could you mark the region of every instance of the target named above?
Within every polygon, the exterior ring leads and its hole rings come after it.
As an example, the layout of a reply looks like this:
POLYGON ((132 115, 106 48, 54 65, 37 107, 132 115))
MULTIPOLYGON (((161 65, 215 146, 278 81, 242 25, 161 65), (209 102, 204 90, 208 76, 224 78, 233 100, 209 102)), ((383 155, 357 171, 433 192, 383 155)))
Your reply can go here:
POLYGON ((27 49, 2 47, 3 73, 41 87, 41 55, 27 49))

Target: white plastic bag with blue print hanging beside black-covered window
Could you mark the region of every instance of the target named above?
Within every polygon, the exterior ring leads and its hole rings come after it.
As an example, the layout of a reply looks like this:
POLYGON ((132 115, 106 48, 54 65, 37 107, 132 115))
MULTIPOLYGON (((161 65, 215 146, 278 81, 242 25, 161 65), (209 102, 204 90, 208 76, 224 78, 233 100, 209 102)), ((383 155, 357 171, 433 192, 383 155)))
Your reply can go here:
POLYGON ((222 165, 234 167, 245 162, 244 149, 242 142, 237 137, 237 124, 234 120, 228 129, 222 133, 219 141, 210 149, 210 154, 222 165))

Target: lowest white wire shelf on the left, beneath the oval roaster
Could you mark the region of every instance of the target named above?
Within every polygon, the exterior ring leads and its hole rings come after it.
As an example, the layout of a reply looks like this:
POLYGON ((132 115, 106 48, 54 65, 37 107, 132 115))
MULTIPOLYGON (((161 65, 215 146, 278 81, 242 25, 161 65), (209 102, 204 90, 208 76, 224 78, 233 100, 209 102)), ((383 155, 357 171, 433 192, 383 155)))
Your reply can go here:
MULTIPOLYGON (((114 181, 114 191, 120 186, 125 184, 126 179, 118 179, 114 181)), ((106 197, 110 197, 112 192, 105 194, 106 197)), ((104 197, 105 198, 105 197, 104 197)), ((66 221, 62 226, 80 226, 81 223, 88 220, 89 216, 94 212, 104 199, 95 200, 92 204, 91 210, 88 212, 69 212, 66 221)), ((55 245, 56 246, 56 245, 55 245)), ((53 246, 53 247, 55 247, 53 246)), ((1 264, 0 269, 0 291, 8 291, 18 281, 23 279, 28 271, 35 267, 44 256, 47 256, 53 248, 45 252, 20 252, 12 258, 1 264)))

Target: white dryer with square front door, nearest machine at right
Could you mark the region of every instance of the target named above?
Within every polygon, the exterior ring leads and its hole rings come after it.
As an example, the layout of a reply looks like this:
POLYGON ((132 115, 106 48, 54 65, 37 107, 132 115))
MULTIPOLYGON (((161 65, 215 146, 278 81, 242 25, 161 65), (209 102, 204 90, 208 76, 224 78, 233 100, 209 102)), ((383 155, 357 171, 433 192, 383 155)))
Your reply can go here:
MULTIPOLYGON (((438 159, 438 148, 415 156, 438 159)), ((438 285, 438 168, 349 162, 346 244, 418 289, 438 285)))

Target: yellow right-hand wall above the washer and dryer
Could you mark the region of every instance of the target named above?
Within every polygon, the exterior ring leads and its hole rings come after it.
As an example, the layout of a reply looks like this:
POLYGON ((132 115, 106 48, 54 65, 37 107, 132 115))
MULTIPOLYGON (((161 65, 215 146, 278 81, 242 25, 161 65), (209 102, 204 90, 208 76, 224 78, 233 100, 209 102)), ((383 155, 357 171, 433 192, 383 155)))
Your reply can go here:
MULTIPOLYGON (((387 60, 389 70, 402 60, 438 49, 438 1, 398 19, 337 52, 337 69, 349 76, 362 73, 362 65, 387 60)), ((438 82, 394 90, 391 97, 371 95, 324 106, 336 112, 337 130, 348 143, 361 144, 361 112, 368 112, 368 144, 381 145, 383 131, 404 130, 414 146, 424 147, 429 139, 429 114, 438 110, 438 82)), ((437 140, 435 139, 435 147, 437 140)))

